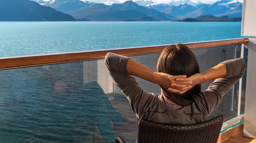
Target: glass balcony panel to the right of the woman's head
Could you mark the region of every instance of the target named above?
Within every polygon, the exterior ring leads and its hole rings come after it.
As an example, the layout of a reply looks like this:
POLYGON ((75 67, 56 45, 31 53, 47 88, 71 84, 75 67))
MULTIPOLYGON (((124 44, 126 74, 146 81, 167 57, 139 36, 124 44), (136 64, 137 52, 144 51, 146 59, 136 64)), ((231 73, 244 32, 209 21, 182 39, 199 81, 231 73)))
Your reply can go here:
MULTIPOLYGON (((241 44, 195 49, 192 51, 198 59, 200 72, 202 73, 225 60, 239 58, 241 54, 241 44)), ((209 81, 201 84, 202 91, 207 89, 212 82, 213 81, 209 81)), ((235 84, 233 89, 225 94, 223 101, 210 114, 209 119, 216 117, 219 114, 225 114, 225 120, 237 116, 238 86, 239 82, 235 84)))

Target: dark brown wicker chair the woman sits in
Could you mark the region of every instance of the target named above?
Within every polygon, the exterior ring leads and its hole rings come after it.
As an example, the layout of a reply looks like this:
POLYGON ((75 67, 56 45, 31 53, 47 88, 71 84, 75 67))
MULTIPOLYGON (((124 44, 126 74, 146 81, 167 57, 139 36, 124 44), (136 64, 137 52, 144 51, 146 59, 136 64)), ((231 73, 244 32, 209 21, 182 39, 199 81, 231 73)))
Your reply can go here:
MULTIPOLYGON (((217 143, 225 115, 194 125, 160 124, 139 120, 138 143, 217 143)), ((118 136, 115 143, 125 143, 118 136)))

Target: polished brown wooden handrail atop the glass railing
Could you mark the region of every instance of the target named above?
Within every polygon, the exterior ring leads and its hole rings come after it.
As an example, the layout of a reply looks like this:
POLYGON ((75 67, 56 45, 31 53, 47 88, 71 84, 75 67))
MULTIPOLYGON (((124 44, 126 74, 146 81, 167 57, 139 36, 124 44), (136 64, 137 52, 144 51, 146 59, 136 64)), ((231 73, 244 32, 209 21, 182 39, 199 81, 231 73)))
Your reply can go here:
MULTIPOLYGON (((241 43, 247 43, 247 42, 248 42, 248 38, 237 38, 237 39, 227 39, 227 40, 192 42, 192 43, 184 43, 184 44, 186 44, 190 49, 198 49, 198 48, 241 44, 241 43)), ((0 70, 27 67, 27 66, 37 66, 37 65, 101 59, 101 58, 104 58, 108 52, 116 53, 123 56, 160 53, 166 46, 168 45, 54 53, 54 54, 42 54, 42 55, 31 55, 31 56, 4 57, 4 58, 0 58, 0 70)))

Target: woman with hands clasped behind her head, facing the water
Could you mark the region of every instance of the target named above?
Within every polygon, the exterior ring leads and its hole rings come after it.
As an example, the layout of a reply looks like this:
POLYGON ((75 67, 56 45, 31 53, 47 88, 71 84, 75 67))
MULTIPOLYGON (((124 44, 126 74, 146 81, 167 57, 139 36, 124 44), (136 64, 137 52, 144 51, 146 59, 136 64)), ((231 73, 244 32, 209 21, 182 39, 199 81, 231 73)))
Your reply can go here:
POLYGON ((205 121, 245 72, 245 61, 238 58, 200 74, 195 55, 184 44, 170 45, 162 51, 158 72, 113 53, 106 55, 105 64, 138 119, 176 125, 205 121), (131 75, 160 85, 163 94, 146 92, 131 75), (201 92, 200 84, 211 80, 215 81, 201 92))

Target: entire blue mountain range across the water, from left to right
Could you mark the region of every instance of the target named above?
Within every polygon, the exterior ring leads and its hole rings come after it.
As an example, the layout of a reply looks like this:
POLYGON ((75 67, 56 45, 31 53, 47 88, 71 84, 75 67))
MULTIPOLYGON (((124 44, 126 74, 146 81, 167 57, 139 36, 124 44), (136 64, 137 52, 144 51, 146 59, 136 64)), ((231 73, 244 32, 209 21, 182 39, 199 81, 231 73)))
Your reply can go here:
POLYGON ((0 21, 173 21, 201 15, 242 16, 242 3, 190 0, 157 4, 139 0, 0 0, 0 21))

